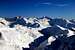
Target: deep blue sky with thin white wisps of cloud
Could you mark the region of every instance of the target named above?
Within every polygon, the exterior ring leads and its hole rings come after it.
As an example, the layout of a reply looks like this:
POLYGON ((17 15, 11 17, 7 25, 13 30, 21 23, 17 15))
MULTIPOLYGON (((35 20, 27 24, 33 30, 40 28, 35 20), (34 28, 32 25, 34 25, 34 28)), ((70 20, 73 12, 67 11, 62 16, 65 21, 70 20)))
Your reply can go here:
POLYGON ((75 18, 75 0, 0 0, 0 16, 75 18))

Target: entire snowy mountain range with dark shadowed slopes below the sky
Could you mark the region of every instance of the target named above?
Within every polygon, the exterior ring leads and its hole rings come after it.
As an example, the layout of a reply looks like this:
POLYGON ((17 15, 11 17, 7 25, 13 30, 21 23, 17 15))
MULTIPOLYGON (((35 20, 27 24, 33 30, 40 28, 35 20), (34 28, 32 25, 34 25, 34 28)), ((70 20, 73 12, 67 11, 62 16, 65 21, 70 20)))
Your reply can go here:
POLYGON ((75 20, 0 18, 0 50, 73 50, 75 20))

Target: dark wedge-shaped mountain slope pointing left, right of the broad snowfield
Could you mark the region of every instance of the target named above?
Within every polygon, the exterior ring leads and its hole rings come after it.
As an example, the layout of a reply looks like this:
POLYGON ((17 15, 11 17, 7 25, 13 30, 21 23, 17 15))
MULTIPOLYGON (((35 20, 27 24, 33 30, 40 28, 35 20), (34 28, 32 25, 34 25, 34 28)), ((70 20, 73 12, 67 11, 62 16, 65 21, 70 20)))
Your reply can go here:
POLYGON ((67 35, 68 30, 61 30, 59 27, 57 26, 52 26, 52 27, 47 27, 45 29, 42 29, 41 31, 39 31, 40 33, 44 34, 44 36, 60 36, 61 34, 67 35))

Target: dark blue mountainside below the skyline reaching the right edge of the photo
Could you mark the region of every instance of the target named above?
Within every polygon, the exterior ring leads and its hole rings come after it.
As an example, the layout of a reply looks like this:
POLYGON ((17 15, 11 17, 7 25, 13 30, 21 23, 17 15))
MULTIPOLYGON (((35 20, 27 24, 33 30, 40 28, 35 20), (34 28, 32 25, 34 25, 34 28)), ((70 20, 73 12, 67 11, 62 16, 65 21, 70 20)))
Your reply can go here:
POLYGON ((67 29, 72 29, 72 27, 75 28, 75 20, 68 20, 68 21, 70 21, 71 23, 68 23, 65 19, 55 18, 55 19, 51 19, 49 21, 49 24, 51 26, 59 25, 67 29))

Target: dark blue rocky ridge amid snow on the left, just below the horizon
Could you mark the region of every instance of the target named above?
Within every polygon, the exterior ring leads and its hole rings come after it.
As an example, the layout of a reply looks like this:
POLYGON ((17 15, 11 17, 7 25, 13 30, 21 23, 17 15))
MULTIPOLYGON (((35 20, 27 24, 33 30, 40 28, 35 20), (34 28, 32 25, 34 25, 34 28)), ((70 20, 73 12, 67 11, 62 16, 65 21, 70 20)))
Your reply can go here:
POLYGON ((17 25, 17 24, 22 25, 22 26, 32 27, 32 28, 38 28, 38 27, 40 27, 40 24, 38 24, 38 23, 34 23, 34 24, 26 23, 26 21, 21 16, 14 17, 14 18, 5 18, 5 20, 7 20, 9 22, 12 22, 9 25, 11 28, 13 28, 14 25, 17 25))

